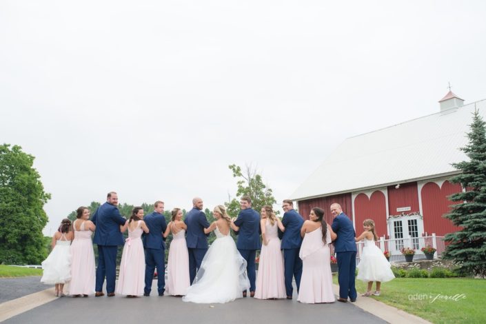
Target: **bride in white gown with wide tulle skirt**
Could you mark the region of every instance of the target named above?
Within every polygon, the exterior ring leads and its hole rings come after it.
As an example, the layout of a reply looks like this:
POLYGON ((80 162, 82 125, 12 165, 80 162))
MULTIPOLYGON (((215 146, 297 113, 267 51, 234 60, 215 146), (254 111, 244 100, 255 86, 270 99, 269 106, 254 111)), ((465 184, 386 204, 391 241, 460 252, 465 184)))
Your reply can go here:
POLYGON ((230 236, 230 217, 223 205, 214 207, 214 221, 205 234, 214 230, 216 240, 207 250, 196 279, 188 288, 183 301, 192 303, 227 303, 243 297, 250 287, 246 275, 246 261, 236 250, 230 236))

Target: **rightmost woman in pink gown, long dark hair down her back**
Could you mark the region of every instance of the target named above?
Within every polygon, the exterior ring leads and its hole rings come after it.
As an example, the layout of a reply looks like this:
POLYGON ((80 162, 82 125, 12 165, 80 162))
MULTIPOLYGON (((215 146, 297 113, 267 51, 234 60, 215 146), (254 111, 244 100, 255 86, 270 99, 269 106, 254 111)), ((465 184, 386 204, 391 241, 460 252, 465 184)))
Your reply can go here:
POLYGON ((312 208, 309 219, 301 228, 304 239, 298 256, 302 259, 302 279, 297 301, 334 303, 329 243, 336 239, 336 234, 325 222, 323 209, 312 208))

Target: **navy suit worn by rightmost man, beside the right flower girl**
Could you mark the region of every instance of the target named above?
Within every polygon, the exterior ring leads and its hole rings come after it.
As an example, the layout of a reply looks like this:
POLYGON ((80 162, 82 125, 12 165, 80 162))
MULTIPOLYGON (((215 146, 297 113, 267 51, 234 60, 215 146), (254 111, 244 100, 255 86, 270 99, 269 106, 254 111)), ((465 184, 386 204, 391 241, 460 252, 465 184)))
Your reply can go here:
POLYGON ((332 221, 332 230, 338 236, 334 241, 334 251, 338 259, 339 297, 350 297, 356 300, 356 287, 354 286, 356 272, 356 242, 353 222, 347 214, 341 212, 332 221))

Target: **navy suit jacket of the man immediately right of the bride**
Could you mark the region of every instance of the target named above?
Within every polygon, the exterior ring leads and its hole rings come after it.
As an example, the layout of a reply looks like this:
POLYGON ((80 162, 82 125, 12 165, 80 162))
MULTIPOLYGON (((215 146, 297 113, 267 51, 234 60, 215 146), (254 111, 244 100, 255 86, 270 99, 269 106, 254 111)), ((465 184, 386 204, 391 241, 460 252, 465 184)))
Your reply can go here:
POLYGON ((260 243, 260 215, 253 208, 247 208, 239 212, 234 225, 240 227, 236 247, 240 250, 259 250, 260 243))

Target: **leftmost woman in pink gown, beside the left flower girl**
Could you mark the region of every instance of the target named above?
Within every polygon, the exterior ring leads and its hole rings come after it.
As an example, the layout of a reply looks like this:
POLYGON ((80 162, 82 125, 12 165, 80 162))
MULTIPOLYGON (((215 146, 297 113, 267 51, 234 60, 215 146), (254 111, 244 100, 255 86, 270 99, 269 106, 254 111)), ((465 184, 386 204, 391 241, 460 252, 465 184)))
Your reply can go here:
POLYGON ((90 210, 79 207, 77 220, 72 223, 74 240, 71 244, 71 282, 69 294, 74 297, 83 295, 88 297, 94 294, 94 281, 96 279, 94 268, 94 252, 91 234, 96 226, 90 221, 90 210))

